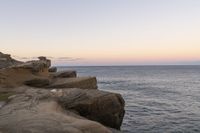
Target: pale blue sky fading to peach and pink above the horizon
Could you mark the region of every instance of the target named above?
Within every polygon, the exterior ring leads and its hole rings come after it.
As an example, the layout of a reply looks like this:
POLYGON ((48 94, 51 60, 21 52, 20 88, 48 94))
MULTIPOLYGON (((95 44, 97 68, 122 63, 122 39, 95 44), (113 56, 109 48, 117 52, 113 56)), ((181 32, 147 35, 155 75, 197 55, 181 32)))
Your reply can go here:
POLYGON ((200 0, 0 0, 0 51, 54 65, 199 65, 200 0))

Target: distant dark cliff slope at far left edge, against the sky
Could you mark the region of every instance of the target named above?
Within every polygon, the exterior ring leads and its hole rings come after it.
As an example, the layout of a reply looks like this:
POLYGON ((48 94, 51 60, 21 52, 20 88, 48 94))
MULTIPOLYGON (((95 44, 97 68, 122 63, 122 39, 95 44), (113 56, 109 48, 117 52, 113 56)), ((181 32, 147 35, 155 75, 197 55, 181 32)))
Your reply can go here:
POLYGON ((3 54, 0 52, 0 69, 6 68, 12 65, 21 64, 22 62, 12 59, 9 54, 3 54))

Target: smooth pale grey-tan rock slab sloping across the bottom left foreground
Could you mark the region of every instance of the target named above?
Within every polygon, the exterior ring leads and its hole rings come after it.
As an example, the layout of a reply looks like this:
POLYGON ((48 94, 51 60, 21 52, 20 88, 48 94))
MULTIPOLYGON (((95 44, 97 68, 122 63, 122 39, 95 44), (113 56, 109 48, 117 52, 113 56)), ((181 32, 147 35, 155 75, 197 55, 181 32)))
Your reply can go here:
POLYGON ((27 89, 0 109, 1 133, 112 133, 100 123, 64 110, 47 90, 27 89))

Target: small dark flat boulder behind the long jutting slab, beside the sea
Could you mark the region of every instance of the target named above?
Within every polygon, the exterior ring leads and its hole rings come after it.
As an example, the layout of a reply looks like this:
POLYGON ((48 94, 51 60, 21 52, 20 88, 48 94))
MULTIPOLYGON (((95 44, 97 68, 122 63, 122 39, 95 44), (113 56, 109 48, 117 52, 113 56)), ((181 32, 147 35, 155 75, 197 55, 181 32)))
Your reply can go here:
POLYGON ((60 71, 52 73, 53 78, 74 78, 77 76, 76 71, 60 71))

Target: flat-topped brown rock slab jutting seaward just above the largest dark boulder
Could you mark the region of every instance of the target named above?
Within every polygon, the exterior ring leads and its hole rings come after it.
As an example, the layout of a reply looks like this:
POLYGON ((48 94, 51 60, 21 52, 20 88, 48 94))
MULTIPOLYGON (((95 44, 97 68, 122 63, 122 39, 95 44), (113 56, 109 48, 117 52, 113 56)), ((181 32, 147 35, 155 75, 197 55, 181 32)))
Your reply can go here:
POLYGON ((97 89, 96 77, 58 78, 46 88, 97 89))

